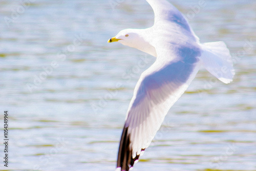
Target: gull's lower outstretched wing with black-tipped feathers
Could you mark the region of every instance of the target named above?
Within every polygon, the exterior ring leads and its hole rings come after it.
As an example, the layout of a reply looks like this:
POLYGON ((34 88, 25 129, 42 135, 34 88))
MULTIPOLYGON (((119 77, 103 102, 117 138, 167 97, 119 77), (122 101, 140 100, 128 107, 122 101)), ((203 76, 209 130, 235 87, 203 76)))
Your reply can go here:
POLYGON ((200 49, 194 46, 170 49, 157 49, 157 60, 141 74, 135 87, 120 140, 117 167, 121 170, 133 167, 155 137, 170 107, 199 70, 200 49))

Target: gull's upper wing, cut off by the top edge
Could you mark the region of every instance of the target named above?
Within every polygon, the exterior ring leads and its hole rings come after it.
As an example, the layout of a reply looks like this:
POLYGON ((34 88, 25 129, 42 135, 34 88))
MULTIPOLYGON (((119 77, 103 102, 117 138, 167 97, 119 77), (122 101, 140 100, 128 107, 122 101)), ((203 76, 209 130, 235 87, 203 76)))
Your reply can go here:
POLYGON ((183 14, 172 4, 166 0, 146 0, 151 5, 155 14, 155 24, 161 21, 168 21, 172 24, 169 25, 168 30, 176 30, 182 34, 191 34, 199 41, 199 38, 194 33, 193 29, 189 26, 183 14))

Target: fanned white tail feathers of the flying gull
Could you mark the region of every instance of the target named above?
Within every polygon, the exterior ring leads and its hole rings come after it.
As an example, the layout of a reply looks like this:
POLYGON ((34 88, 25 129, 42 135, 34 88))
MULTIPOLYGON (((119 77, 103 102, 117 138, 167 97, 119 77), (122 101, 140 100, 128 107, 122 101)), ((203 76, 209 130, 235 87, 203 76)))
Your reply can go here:
POLYGON ((234 69, 229 50, 223 41, 201 44, 203 67, 224 83, 233 80, 234 69))

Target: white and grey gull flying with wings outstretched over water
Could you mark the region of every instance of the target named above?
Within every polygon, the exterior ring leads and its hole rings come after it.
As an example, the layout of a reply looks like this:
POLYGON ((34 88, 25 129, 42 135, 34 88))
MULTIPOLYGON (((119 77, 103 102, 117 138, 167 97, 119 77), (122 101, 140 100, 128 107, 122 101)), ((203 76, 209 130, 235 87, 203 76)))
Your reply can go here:
POLYGON ((155 14, 147 29, 125 29, 108 42, 156 57, 134 89, 126 113, 116 170, 130 170, 150 145, 170 107, 186 91, 202 66, 224 83, 234 76, 223 41, 201 44, 184 15, 166 0, 146 0, 155 14))

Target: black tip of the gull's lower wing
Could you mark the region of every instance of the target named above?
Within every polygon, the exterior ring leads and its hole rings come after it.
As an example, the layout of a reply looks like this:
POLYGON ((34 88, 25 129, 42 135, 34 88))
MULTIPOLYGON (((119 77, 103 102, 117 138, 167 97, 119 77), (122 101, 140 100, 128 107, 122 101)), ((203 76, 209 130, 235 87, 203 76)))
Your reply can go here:
MULTIPOLYGON (((129 127, 129 126, 128 126, 129 127)), ((128 127, 123 127, 123 132, 120 140, 117 168, 121 168, 121 171, 129 171, 133 167, 136 160, 139 160, 140 154, 133 158, 133 149, 130 149, 131 135, 128 133, 128 127)), ((145 151, 145 148, 141 149, 141 152, 145 151)))

